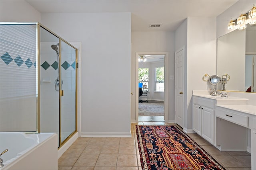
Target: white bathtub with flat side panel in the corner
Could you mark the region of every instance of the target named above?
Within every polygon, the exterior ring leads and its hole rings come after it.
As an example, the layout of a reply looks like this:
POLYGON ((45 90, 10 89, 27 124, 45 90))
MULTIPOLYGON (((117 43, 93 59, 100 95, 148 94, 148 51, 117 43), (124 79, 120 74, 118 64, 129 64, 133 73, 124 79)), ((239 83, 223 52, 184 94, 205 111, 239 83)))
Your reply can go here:
POLYGON ((0 152, 4 166, 0 170, 57 170, 56 133, 25 134, 0 132, 0 152))

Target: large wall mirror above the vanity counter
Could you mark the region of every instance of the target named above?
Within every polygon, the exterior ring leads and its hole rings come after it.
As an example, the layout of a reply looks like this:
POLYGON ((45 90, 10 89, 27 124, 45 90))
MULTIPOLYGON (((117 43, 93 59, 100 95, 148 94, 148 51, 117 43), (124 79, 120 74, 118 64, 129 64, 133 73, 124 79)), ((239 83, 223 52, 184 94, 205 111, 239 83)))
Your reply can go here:
MULTIPOLYGON (((256 25, 247 24, 244 30, 234 30, 218 38, 217 74, 229 74, 226 90, 256 92, 256 25)), ((218 90, 222 90, 219 86, 218 90)))

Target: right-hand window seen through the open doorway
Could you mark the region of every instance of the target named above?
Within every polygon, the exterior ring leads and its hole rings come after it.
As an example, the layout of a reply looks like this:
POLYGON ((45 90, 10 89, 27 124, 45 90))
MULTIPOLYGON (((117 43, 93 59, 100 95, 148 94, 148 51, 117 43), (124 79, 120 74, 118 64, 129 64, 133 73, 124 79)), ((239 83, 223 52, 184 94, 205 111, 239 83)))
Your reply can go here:
POLYGON ((164 92, 164 67, 155 68, 156 92, 164 92))

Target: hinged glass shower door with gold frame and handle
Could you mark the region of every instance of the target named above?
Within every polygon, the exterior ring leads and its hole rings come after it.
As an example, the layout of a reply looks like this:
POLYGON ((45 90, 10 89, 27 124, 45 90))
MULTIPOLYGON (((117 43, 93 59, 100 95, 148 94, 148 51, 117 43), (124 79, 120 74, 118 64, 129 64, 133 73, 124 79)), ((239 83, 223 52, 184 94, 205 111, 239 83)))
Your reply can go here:
POLYGON ((61 41, 60 139, 63 143, 76 131, 76 49, 61 41))

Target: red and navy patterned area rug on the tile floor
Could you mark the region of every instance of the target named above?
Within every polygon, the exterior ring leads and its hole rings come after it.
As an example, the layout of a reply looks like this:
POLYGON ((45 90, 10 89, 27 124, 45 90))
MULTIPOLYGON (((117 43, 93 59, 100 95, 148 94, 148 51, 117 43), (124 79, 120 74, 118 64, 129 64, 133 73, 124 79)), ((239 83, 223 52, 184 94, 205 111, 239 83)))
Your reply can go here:
POLYGON ((225 170, 175 125, 136 125, 142 170, 225 170))

